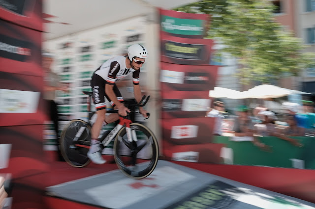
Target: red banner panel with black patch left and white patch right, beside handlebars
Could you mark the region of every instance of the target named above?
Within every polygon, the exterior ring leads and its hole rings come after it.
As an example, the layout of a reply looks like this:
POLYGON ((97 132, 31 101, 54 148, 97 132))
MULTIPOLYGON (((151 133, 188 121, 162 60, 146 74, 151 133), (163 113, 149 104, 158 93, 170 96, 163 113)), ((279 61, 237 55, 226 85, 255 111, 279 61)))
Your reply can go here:
POLYGON ((203 117, 211 100, 206 91, 162 91, 162 118, 203 117))

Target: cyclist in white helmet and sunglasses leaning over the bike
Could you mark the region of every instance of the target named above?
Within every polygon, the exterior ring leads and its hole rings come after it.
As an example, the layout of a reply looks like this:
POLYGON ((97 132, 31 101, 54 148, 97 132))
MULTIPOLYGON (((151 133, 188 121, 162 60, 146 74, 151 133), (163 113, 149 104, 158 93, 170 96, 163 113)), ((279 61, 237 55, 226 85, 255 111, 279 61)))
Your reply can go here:
MULTIPOLYGON (((116 80, 125 78, 132 73, 133 94, 137 102, 141 101, 142 94, 139 85, 139 74, 142 64, 148 56, 147 50, 140 44, 133 44, 128 47, 127 56, 116 56, 105 61, 92 75, 91 87, 93 89, 94 104, 96 109, 96 120, 91 130, 91 146, 88 157, 96 164, 103 164, 106 160, 101 156, 100 141, 98 136, 100 130, 105 124, 112 123, 119 119, 119 115, 126 116, 130 112, 128 108, 122 104, 124 101, 117 85, 116 80), (114 107, 118 109, 118 114, 110 114, 106 116, 105 97, 114 107)), ((139 107, 140 113, 146 117, 147 111, 139 107)))

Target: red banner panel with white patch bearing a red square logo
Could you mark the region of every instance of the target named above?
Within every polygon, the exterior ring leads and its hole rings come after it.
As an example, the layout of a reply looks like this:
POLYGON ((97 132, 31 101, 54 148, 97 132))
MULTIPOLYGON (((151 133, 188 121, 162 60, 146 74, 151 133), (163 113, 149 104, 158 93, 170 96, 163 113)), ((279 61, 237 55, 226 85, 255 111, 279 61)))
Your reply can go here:
POLYGON ((214 122, 209 117, 162 119, 162 137, 172 144, 211 143, 214 122))

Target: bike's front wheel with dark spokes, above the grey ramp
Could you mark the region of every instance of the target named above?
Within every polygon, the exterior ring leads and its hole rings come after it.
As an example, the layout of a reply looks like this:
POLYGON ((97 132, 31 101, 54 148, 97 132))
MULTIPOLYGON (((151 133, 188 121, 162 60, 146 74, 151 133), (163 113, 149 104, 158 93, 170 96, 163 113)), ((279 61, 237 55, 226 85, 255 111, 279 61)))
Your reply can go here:
POLYGON ((134 140, 129 142, 126 127, 118 132, 114 142, 114 156, 118 167, 133 179, 149 176, 158 163, 158 141, 154 133, 146 126, 138 123, 130 124, 134 140))

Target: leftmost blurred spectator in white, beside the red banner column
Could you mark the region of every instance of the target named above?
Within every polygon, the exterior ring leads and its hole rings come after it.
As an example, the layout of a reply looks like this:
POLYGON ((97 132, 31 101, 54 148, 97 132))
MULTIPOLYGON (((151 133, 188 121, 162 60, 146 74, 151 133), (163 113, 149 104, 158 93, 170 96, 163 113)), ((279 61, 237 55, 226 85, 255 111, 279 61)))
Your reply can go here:
POLYGON ((209 109, 206 112, 206 117, 214 117, 216 118, 216 123, 213 131, 213 135, 221 136, 222 135, 222 118, 221 114, 224 111, 225 105, 221 101, 215 101, 213 103, 213 109, 209 109))

